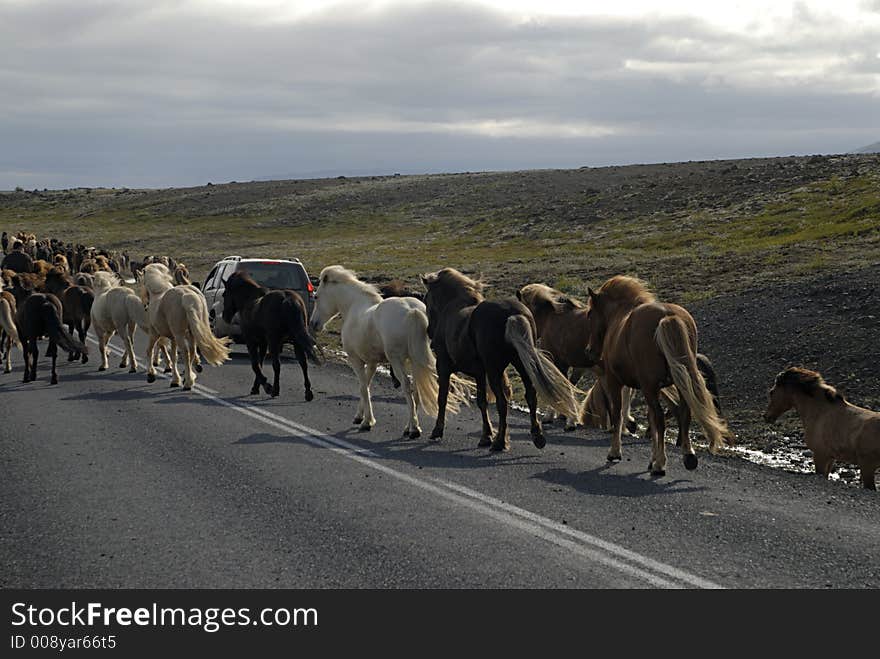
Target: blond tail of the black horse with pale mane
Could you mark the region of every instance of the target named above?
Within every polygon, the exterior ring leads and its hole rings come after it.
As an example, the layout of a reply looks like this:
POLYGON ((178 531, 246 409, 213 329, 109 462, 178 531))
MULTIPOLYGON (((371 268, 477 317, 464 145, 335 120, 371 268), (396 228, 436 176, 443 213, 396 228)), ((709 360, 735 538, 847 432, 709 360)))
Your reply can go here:
POLYGON ((577 419, 578 405, 574 394, 577 391, 568 378, 560 372, 553 361, 535 345, 532 324, 522 314, 510 316, 504 327, 504 339, 516 350, 526 375, 538 392, 559 414, 568 419, 577 419))

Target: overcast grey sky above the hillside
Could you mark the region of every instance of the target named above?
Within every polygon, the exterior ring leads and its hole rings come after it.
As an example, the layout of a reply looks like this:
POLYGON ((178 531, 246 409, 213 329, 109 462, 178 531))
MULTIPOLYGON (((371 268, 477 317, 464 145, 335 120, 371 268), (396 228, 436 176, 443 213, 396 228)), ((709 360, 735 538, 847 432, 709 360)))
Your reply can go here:
POLYGON ((880 0, 0 0, 0 99, 0 189, 839 153, 880 0))

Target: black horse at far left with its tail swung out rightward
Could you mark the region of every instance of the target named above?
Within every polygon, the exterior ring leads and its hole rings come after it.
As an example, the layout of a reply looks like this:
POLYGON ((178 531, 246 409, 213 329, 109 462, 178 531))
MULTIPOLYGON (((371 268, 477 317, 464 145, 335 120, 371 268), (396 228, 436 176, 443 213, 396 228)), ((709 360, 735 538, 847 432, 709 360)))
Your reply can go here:
POLYGON ((15 324, 24 352, 24 380, 37 379, 37 358, 40 355, 37 339, 49 337, 46 354, 52 359, 52 384, 58 384, 55 362, 58 346, 69 352, 88 354, 85 345, 74 339, 61 325, 61 301, 51 293, 32 293, 21 300, 15 314, 15 324))

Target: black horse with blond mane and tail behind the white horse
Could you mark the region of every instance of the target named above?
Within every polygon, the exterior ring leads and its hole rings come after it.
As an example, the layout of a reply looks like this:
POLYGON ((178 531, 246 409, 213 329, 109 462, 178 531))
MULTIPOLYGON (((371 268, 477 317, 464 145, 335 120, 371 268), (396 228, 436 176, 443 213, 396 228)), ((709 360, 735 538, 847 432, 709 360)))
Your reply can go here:
POLYGON ((483 418, 479 446, 491 446, 493 451, 509 450, 510 384, 504 371, 513 364, 526 390, 532 441, 543 448, 547 442, 537 417, 538 397, 570 419, 577 417, 577 404, 574 387, 535 346, 535 320, 531 312, 513 298, 484 300, 483 285, 452 268, 424 275, 422 281, 428 289, 428 333, 437 353, 440 377, 439 412, 431 438, 443 436, 450 377, 462 372, 477 383, 477 404, 483 418), (487 380, 498 409, 498 434, 494 438, 488 414, 487 380))

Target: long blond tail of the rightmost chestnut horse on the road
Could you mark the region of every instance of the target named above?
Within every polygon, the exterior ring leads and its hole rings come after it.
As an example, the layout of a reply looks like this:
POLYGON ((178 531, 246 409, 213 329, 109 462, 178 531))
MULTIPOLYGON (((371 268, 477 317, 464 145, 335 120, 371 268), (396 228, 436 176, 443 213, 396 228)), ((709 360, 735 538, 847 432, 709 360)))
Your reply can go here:
POLYGON ((709 438, 709 451, 717 453, 725 440, 732 443, 732 435, 724 419, 715 411, 712 394, 697 366, 697 356, 688 340, 684 321, 678 316, 666 316, 657 325, 654 340, 666 358, 679 396, 709 438))

